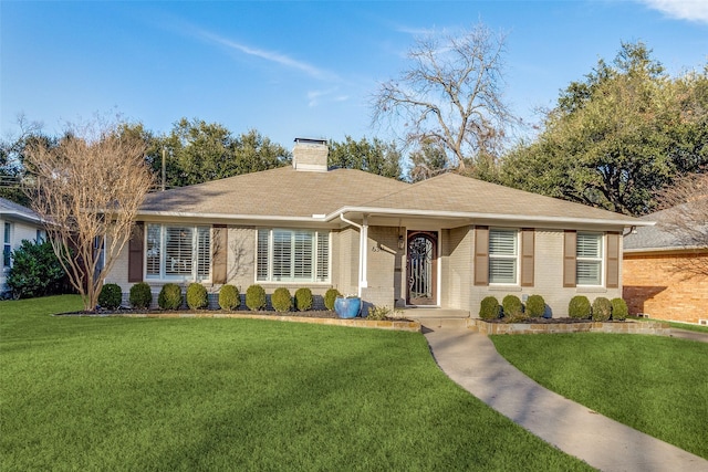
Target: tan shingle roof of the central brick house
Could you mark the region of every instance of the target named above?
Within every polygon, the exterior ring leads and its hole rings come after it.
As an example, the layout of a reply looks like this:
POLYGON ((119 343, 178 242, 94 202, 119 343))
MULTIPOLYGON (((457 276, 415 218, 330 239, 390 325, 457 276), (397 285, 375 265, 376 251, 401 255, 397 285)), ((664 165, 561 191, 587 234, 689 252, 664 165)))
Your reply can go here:
POLYGON ((201 185, 149 193, 145 213, 229 217, 312 218, 343 208, 408 213, 457 212, 491 218, 602 220, 631 224, 641 220, 543 197, 486 181, 445 174, 406 183, 361 170, 298 171, 292 167, 247 174, 201 185))

